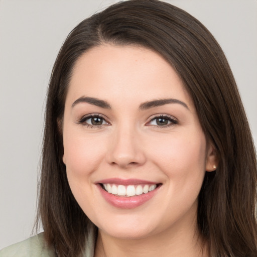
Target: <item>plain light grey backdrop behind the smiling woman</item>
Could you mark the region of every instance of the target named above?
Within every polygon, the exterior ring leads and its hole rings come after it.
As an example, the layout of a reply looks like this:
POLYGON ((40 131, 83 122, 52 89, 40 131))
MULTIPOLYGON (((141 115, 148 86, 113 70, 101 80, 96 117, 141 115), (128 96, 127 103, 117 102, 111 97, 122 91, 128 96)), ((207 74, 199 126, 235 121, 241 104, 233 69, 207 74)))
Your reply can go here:
MULTIPOLYGON (((45 95, 57 53, 73 27, 115 2, 0 0, 0 248, 32 231, 45 95)), ((220 43, 256 145, 257 1, 166 2, 199 19, 220 43)))

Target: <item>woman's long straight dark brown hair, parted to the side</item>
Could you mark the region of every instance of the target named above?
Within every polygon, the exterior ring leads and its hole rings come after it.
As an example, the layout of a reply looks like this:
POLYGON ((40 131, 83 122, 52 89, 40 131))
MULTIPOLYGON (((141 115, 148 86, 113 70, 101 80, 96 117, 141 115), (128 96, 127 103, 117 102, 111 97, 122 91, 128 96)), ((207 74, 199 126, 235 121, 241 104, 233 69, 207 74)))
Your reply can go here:
POLYGON ((48 244, 60 256, 79 256, 88 234, 97 233, 70 190, 60 126, 76 60, 103 43, 147 47, 177 71, 219 161, 215 172, 206 173, 199 194, 198 228, 209 254, 257 256, 256 156, 234 77, 198 20, 156 0, 125 1, 93 15, 74 28, 59 52, 48 89, 37 219, 48 244))

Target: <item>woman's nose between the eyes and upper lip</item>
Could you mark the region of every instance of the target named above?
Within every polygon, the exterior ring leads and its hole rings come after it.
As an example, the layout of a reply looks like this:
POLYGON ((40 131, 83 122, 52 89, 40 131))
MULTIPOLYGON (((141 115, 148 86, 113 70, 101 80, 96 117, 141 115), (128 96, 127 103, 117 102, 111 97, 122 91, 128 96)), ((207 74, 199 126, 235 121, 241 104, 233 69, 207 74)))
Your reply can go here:
POLYGON ((141 166, 146 162, 140 133, 135 128, 120 128, 110 138, 106 161, 122 169, 141 166))

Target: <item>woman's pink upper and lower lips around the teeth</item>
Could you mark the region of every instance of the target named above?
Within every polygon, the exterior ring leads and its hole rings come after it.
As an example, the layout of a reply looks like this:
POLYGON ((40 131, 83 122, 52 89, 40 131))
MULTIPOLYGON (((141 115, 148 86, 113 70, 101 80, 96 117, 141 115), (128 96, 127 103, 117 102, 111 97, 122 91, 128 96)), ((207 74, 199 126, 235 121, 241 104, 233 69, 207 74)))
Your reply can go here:
POLYGON ((123 180, 123 179, 113 178, 113 179, 105 179, 105 180, 97 181, 95 184, 100 190, 100 193, 103 196, 103 198, 109 204, 111 204, 114 207, 122 208, 122 209, 132 209, 144 204, 145 202, 153 198, 154 195, 157 193, 158 189, 160 188, 160 187, 157 187, 155 190, 148 192, 147 194, 127 197, 127 196, 116 196, 116 195, 110 194, 102 188, 101 184, 117 184, 117 185, 125 186, 125 185, 143 185, 143 184, 153 185, 158 183, 146 181, 146 180, 138 180, 138 179, 123 180))

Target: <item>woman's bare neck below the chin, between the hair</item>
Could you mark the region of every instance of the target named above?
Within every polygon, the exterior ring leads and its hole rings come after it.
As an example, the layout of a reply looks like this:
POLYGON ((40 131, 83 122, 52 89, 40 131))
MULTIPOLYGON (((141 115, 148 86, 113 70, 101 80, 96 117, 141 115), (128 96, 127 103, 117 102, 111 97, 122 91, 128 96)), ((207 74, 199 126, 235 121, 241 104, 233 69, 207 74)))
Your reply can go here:
POLYGON ((196 218, 183 223, 178 221, 160 233, 137 239, 116 238, 99 229, 94 257, 208 256, 196 218))

